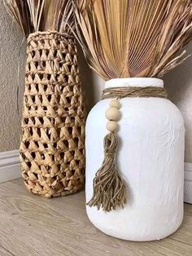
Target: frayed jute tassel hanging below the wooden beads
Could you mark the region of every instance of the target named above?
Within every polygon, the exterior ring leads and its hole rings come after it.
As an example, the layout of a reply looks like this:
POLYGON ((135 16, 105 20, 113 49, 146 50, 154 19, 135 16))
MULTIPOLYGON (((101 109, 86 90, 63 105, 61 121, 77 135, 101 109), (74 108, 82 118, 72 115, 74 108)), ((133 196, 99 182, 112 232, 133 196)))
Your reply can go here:
POLYGON ((119 139, 116 132, 111 132, 104 138, 104 161, 94 178, 94 195, 87 203, 97 206, 98 210, 110 212, 116 207, 124 208, 126 203, 126 187, 116 169, 116 151, 119 139))

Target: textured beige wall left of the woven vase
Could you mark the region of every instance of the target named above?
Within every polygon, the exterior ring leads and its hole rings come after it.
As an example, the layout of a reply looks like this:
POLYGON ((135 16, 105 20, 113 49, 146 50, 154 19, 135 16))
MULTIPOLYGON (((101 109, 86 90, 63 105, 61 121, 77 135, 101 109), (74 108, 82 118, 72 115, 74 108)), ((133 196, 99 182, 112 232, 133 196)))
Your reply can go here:
POLYGON ((24 87, 24 45, 20 29, 12 24, 3 0, 0 0, 0 152, 19 148, 20 116, 16 109, 18 64, 20 67, 20 97, 24 87), (21 48, 21 50, 20 50, 21 48), (20 52, 20 55, 19 55, 20 52))

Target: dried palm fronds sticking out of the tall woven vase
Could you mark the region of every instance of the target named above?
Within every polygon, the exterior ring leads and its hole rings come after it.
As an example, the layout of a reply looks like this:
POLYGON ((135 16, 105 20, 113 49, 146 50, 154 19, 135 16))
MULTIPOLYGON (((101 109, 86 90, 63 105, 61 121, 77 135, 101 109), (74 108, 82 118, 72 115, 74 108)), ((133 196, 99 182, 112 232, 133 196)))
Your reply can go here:
POLYGON ((74 16, 68 0, 4 0, 25 36, 38 31, 72 33, 74 16))

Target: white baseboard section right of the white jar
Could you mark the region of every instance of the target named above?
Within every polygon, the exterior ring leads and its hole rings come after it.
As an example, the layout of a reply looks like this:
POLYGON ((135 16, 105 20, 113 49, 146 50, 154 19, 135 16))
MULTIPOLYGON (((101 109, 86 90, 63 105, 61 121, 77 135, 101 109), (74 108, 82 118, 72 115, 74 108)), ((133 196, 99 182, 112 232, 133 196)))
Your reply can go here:
POLYGON ((192 204, 192 163, 185 162, 184 201, 192 204))

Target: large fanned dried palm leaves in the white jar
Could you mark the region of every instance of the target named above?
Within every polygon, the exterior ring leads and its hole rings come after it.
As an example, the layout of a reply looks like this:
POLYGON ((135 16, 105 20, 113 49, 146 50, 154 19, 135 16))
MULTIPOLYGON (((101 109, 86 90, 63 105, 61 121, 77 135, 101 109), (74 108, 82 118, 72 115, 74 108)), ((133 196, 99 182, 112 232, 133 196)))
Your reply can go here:
POLYGON ((100 77, 162 77, 185 60, 192 0, 74 0, 78 38, 100 77))

